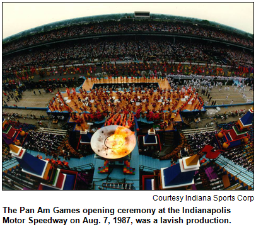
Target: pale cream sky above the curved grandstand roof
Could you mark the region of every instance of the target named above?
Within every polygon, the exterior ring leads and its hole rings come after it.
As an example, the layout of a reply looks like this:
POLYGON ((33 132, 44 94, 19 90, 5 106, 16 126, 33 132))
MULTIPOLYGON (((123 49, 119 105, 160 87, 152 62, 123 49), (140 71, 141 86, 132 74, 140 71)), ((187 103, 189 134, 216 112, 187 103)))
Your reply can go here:
POLYGON ((253 3, 3 3, 3 38, 63 19, 134 11, 207 19, 253 33, 253 3))

